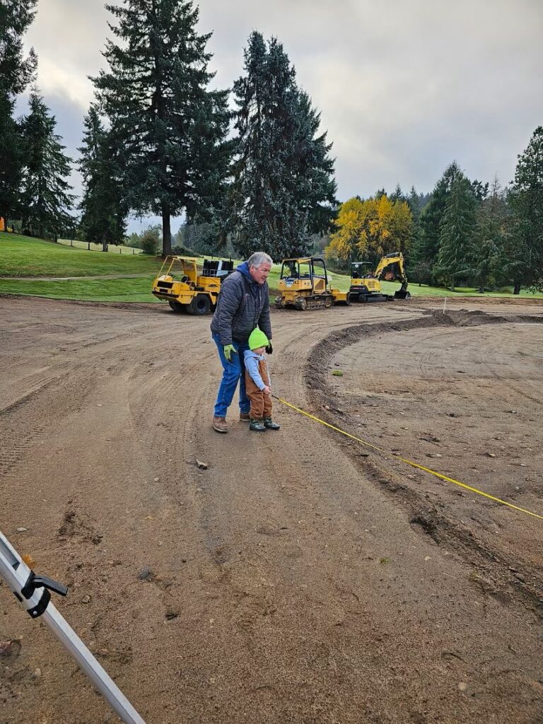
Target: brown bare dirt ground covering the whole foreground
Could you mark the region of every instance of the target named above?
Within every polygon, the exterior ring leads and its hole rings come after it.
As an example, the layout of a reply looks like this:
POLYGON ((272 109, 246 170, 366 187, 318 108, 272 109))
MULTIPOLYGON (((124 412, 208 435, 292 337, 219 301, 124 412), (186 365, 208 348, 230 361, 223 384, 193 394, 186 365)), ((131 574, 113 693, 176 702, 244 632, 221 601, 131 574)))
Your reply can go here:
MULTIPOLYGON (((409 464, 543 515, 543 305, 442 306, 272 312, 274 394, 379 452, 216 434, 210 317, 0 298, 0 529, 147 724, 543 721, 543 520, 409 464)), ((0 613, 1 724, 118 721, 0 613)))

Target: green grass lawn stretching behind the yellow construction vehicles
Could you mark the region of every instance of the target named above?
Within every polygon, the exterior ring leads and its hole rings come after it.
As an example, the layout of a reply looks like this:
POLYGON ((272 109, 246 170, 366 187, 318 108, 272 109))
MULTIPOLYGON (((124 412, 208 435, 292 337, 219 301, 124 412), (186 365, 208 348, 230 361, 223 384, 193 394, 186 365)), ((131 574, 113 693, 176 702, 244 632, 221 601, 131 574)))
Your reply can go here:
MULTIPOLYGON (((92 245, 91 249, 98 245, 92 245)), ((202 260, 200 260, 202 261, 202 260)), ((234 268, 238 264, 234 262, 234 268)), ((69 240, 53 243, 17 234, 0 233, 0 277, 94 277, 107 274, 145 274, 137 279, 62 279, 61 281, 32 281, 0 279, 0 293, 22 294, 52 299, 78 299, 109 302, 157 302, 151 294, 153 278, 158 274, 160 257, 132 254, 128 248, 109 249, 109 253, 88 251, 84 242, 69 240)), ((271 297, 277 294, 281 265, 274 264, 268 283, 271 297)), ((332 287, 348 290, 350 277, 332 272, 332 287)), ((397 282, 381 282, 382 291, 393 295, 400 288, 397 282)), ((409 286, 413 297, 481 296, 476 289, 458 288, 454 292, 426 285, 409 286)), ((520 295, 485 292, 484 297, 541 298, 542 293, 532 294, 521 290, 520 295)))

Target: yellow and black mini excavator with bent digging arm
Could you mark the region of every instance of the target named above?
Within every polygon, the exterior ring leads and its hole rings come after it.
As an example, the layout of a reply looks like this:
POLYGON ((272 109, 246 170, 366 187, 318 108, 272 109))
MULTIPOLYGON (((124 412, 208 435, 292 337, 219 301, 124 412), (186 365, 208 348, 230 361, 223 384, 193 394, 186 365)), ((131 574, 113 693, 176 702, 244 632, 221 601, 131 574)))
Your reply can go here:
POLYGON ((398 251, 383 256, 375 271, 371 271, 369 261, 353 261, 350 265, 350 299, 358 302, 388 301, 392 299, 407 299, 411 297, 408 292, 408 280, 405 275, 403 254, 398 251), (385 271, 386 270, 386 271, 385 271), (381 290, 381 279, 392 282, 397 279, 401 282, 400 289, 394 296, 384 294, 381 290))

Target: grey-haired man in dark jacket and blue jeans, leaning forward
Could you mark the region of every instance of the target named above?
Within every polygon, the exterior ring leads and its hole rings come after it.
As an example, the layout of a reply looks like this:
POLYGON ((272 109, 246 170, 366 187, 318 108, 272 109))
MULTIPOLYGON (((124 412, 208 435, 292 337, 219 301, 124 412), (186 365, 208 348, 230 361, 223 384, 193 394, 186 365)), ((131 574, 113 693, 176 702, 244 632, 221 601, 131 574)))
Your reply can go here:
POLYGON ((238 382, 240 420, 249 421, 251 402, 245 393, 243 353, 248 350, 248 339, 253 329, 259 327, 266 334, 270 342, 266 351, 268 354, 272 351, 269 289, 266 282, 271 264, 271 256, 257 251, 222 282, 211 320, 211 333, 223 369, 213 416, 216 432, 228 432, 226 416, 238 382))

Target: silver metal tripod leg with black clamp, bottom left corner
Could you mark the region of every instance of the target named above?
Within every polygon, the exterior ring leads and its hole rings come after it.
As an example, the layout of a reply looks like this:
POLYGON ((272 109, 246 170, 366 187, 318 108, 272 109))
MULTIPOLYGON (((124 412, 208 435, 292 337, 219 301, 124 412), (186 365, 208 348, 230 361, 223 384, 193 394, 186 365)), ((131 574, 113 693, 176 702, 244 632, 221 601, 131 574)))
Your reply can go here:
POLYGON ((45 576, 36 576, 1 531, 0 578, 6 581, 32 618, 41 616, 120 719, 125 724, 145 724, 117 684, 50 602, 50 590, 66 595, 67 588, 45 576))

